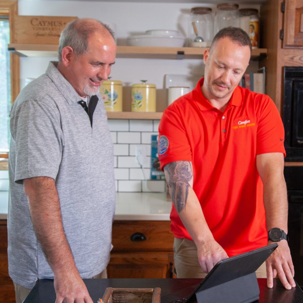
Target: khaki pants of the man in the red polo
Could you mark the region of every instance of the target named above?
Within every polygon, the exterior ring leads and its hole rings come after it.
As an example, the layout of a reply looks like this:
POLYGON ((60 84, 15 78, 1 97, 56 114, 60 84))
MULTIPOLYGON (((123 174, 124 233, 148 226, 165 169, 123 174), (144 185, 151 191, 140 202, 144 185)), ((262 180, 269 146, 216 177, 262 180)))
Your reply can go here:
MULTIPOLYGON (((205 278, 207 275, 199 264, 194 241, 175 238, 174 263, 177 278, 205 278)), ((257 278, 266 278, 265 262, 256 270, 256 275, 257 278)))

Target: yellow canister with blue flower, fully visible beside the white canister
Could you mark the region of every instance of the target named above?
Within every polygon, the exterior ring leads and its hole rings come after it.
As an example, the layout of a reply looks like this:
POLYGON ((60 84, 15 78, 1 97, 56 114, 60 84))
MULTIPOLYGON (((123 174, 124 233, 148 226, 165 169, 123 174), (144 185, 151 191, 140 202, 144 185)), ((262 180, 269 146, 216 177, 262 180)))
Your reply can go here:
POLYGON ((132 112, 156 111, 156 85, 146 81, 132 85, 132 112))

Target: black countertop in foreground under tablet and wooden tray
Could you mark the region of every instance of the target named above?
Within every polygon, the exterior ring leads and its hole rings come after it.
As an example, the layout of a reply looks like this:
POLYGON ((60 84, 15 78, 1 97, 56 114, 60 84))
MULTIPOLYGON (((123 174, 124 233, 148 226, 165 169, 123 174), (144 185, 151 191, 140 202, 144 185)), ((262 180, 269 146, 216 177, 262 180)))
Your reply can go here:
MULTIPOLYGON (((84 279, 94 303, 102 298, 105 288, 161 288, 161 296, 197 285, 201 279, 84 279)), ((53 280, 37 282, 23 303, 54 303, 56 300, 53 280)), ((302 303, 303 291, 299 286, 286 290, 279 279, 274 279, 274 287, 267 288, 266 279, 258 279, 260 303, 302 303)))

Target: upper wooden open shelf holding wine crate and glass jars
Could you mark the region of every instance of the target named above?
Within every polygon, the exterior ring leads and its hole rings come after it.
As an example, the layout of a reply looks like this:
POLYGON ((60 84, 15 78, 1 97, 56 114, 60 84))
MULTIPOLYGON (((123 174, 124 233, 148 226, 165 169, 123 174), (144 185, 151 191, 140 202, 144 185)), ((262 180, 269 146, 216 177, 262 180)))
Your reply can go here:
MULTIPOLYGON (((117 46, 117 58, 202 59, 205 47, 143 47, 117 46)), ((9 44, 8 50, 26 57, 57 57, 58 45, 54 44, 9 44)), ((252 50, 251 59, 267 56, 266 48, 252 50)))

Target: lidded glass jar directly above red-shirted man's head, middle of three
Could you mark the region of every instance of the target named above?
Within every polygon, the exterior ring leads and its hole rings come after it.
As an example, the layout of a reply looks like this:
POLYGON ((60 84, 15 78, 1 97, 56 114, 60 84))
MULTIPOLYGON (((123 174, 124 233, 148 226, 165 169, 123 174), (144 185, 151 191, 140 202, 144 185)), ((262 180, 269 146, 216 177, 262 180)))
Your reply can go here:
POLYGON ((216 34, 220 29, 234 26, 240 27, 239 5, 236 3, 219 3, 215 13, 215 30, 216 34))

